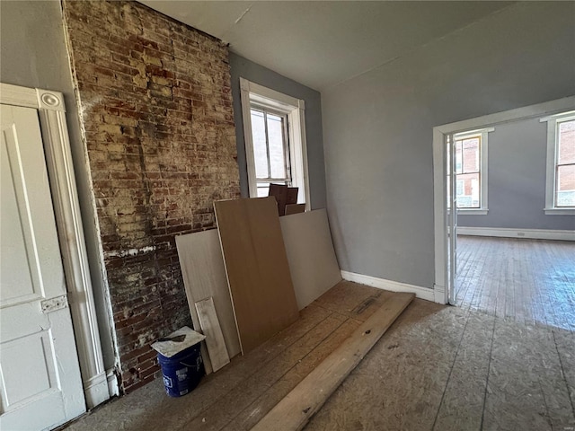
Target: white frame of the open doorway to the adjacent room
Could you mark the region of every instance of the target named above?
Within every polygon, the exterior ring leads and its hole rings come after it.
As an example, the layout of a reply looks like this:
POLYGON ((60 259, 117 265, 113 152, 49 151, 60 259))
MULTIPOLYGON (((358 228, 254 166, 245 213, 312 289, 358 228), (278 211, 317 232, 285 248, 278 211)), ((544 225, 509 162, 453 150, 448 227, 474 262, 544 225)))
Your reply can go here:
POLYGON ((437 303, 447 303, 448 278, 451 276, 447 267, 448 259, 451 259, 451 256, 448 255, 447 250, 446 136, 473 128, 484 128, 516 121, 517 119, 543 117, 562 110, 573 110, 573 107, 575 107, 575 96, 570 96, 556 101, 546 101, 516 110, 506 110, 433 128, 433 224, 435 231, 435 281, 433 290, 437 303))

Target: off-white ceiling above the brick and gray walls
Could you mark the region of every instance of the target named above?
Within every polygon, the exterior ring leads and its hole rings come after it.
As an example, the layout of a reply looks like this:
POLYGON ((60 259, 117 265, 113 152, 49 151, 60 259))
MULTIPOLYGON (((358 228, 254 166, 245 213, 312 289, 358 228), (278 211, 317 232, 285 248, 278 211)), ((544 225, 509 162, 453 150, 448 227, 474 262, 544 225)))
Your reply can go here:
POLYGON ((513 4, 500 1, 141 0, 322 91, 513 4))

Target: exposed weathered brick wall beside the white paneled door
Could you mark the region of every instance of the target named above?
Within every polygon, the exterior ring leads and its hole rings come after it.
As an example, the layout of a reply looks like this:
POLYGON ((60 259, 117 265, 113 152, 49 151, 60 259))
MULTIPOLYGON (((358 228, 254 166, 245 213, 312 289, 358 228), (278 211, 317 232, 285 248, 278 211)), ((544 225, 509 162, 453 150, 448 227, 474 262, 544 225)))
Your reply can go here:
POLYGON ((124 391, 191 324, 174 235, 239 197, 226 46, 142 4, 64 2, 124 391))

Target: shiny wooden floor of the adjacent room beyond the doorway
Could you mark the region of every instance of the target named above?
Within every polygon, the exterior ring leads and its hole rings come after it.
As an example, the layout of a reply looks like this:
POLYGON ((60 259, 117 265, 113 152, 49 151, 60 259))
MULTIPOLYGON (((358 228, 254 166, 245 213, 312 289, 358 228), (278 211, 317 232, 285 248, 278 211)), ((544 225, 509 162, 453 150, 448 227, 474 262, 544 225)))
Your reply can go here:
POLYGON ((457 237, 457 304, 575 330, 575 242, 457 237))

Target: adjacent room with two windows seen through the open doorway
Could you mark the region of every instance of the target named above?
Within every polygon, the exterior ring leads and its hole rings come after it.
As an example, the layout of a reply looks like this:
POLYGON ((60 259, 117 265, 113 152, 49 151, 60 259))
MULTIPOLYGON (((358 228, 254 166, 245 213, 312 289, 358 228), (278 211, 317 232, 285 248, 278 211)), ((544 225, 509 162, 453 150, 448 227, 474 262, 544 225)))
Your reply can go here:
POLYGON ((574 140, 573 111, 455 135, 456 304, 573 330, 574 140))

